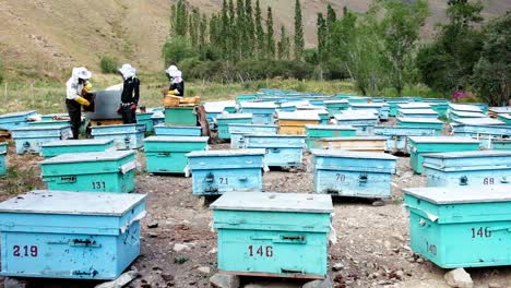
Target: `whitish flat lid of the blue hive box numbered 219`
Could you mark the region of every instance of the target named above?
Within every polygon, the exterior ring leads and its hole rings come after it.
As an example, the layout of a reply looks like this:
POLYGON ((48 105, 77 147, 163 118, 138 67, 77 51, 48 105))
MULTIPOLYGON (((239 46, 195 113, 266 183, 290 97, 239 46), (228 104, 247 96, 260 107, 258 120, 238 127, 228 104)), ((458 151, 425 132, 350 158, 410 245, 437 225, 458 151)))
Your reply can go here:
POLYGON ((35 190, 0 203, 1 213, 121 216, 145 194, 35 190))

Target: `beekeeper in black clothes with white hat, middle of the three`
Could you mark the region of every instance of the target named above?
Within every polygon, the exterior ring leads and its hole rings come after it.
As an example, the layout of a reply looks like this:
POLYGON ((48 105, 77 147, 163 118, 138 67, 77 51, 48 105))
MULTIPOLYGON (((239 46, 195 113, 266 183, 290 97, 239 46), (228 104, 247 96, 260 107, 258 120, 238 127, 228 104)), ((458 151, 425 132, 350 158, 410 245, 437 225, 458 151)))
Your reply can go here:
POLYGON ((136 77, 136 69, 130 64, 123 64, 119 72, 124 80, 120 107, 122 122, 124 124, 136 123, 135 112, 140 98, 140 80, 136 77))

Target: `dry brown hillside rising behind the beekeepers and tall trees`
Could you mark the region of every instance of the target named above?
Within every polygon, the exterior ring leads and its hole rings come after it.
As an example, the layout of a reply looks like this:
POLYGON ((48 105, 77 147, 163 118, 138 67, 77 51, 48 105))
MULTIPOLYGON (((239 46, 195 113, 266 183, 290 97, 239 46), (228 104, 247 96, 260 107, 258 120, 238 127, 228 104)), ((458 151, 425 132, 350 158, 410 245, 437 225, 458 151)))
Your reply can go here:
MULTIPOLYGON (((190 0, 203 12, 217 11, 222 0, 190 0)), ((261 0, 273 7, 275 31, 293 29, 294 0, 261 0)), ((430 0, 431 16, 425 34, 444 20, 445 1, 430 0)), ((485 17, 511 9, 510 1, 484 1, 485 17)), ((0 55, 8 71, 31 76, 62 77, 83 64, 98 70, 102 53, 129 61, 141 70, 163 68, 161 47, 168 34, 169 0, 0 0, 0 55), (20 72, 21 71, 21 72, 20 72)), ((316 44, 317 13, 331 3, 363 12, 370 0, 302 1, 306 46, 316 44)))

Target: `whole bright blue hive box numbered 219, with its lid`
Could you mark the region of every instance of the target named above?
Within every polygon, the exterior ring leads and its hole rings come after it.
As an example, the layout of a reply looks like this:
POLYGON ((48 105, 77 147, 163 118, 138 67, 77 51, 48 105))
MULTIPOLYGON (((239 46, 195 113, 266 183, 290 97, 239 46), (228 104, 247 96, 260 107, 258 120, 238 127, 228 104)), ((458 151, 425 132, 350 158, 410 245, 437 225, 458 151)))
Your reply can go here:
POLYGON ((116 279, 140 254, 144 214, 142 194, 33 191, 2 202, 1 275, 116 279))

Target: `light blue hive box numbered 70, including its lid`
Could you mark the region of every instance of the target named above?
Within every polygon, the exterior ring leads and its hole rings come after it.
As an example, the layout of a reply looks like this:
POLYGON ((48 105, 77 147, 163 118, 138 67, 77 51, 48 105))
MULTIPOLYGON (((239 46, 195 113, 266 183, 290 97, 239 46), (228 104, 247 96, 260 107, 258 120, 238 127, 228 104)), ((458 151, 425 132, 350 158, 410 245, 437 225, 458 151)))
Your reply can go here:
POLYGON ((316 193, 389 199, 396 157, 384 153, 312 149, 316 193))

